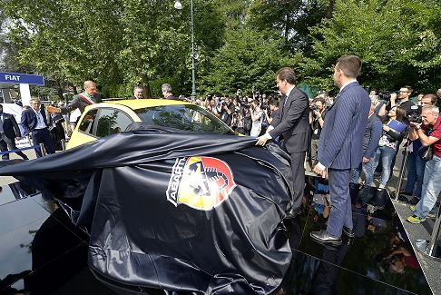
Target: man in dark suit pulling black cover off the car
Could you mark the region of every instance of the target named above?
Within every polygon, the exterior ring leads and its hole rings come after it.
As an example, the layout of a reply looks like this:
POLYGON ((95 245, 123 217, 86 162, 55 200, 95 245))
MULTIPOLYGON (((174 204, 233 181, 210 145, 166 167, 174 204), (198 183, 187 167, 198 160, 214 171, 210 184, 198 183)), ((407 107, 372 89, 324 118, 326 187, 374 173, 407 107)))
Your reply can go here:
POLYGON ((269 139, 283 136, 283 145, 291 160, 293 176, 293 200, 288 217, 297 215, 305 187, 305 153, 309 147, 309 99, 296 84, 296 74, 289 67, 276 73, 276 84, 283 94, 267 133, 258 138, 257 145, 264 145, 269 139))

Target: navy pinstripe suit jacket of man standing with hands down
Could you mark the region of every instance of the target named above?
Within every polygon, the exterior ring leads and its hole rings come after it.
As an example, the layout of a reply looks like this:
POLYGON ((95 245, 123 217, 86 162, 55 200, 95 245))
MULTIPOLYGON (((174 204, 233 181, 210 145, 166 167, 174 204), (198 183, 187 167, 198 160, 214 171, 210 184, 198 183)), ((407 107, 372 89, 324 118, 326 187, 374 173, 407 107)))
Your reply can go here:
POLYGON ((348 84, 328 109, 319 139, 317 159, 328 168, 358 167, 368 124, 370 99, 358 82, 348 84))

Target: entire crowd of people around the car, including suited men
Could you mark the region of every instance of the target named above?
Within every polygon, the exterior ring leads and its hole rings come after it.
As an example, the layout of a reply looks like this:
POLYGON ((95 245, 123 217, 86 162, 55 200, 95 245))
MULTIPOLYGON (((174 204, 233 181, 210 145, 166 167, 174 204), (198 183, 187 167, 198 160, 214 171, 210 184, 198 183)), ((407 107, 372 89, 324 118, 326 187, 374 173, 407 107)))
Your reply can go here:
MULTIPOLYGON (((409 85, 397 92, 367 93, 357 81, 361 59, 355 55, 342 56, 334 70, 334 84, 339 88, 335 98, 326 92, 309 98, 296 87, 296 75, 290 68, 281 68, 276 74, 279 91, 275 93, 247 95, 239 89, 233 96, 188 99, 175 97, 171 85, 162 84, 162 95, 164 99, 186 100, 201 106, 235 132, 256 137, 258 145, 269 140, 279 143, 289 154, 293 175, 289 216, 295 216, 301 205, 305 167, 328 179, 332 209, 328 212, 327 231, 311 233, 317 241, 339 243, 342 232, 352 235, 349 187, 361 184, 384 191, 397 154, 403 150, 407 156, 407 182, 400 200, 408 202, 415 211, 407 221, 419 223, 435 216, 436 199, 441 192, 441 89, 420 93, 416 101, 411 99, 414 91, 409 85), (374 184, 376 172, 380 173, 378 184, 374 184)), ((136 86, 132 99, 141 99, 142 94, 142 87, 136 86)), ((83 112, 85 106, 100 102, 96 85, 86 81, 83 93, 73 96, 70 103, 49 105, 45 111, 56 121, 57 115, 74 109, 83 112)), ((12 122, 1 110, 0 119, 2 123, 12 122)), ((30 107, 25 108, 22 124, 34 143, 44 143, 48 153, 55 151, 38 99, 32 99, 30 107)), ((0 125, 0 131, 6 133, 6 129, 11 128, 0 125)), ((11 138, 22 135, 16 130, 8 133, 1 133, 2 151, 5 146, 15 149, 11 138)), ((37 152, 37 156, 41 153, 37 152)), ((364 206, 366 202, 357 205, 364 206)))

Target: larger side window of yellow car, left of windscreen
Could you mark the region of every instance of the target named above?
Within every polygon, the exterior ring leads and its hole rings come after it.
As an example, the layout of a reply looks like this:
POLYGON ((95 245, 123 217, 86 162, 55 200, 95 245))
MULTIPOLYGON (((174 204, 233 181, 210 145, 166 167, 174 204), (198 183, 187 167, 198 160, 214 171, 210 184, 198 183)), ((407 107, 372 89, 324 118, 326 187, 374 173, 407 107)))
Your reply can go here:
POLYGON ((93 134, 97 137, 104 137, 113 133, 121 133, 131 123, 133 123, 132 118, 121 110, 100 109, 97 124, 93 127, 93 134))

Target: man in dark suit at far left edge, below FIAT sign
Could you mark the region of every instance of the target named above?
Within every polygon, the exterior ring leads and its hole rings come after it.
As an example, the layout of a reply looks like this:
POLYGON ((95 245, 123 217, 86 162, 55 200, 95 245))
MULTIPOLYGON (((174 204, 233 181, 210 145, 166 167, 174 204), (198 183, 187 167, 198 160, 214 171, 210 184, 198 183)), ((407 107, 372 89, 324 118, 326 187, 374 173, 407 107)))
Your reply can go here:
MULTIPOLYGON (((0 104, 0 149, 2 152, 16 150, 15 139, 22 137, 20 128, 15 121, 14 115, 10 113, 3 113, 3 106, 0 104)), ((23 160, 29 160, 24 152, 15 152, 23 160)), ((3 160, 9 160, 9 153, 2 154, 3 160)))

